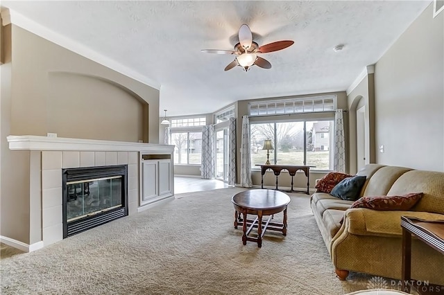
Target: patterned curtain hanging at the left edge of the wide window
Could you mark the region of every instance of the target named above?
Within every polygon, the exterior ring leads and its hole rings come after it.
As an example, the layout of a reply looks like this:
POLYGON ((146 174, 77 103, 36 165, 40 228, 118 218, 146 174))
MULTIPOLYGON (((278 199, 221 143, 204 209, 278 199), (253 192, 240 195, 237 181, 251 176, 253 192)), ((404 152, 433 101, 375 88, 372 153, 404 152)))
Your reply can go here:
POLYGON ((248 116, 243 116, 241 138, 241 186, 244 188, 253 188, 253 181, 251 180, 250 151, 250 120, 248 120, 248 116))

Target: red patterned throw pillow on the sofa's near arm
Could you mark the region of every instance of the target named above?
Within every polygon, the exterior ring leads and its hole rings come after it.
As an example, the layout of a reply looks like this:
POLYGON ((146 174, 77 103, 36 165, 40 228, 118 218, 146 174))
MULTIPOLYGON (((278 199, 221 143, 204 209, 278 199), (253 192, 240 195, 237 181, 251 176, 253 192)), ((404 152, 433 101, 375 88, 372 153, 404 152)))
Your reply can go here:
POLYGON ((368 208, 380 211, 408 211, 415 206, 422 195, 424 194, 409 193, 406 195, 361 197, 357 199, 350 208, 368 208))

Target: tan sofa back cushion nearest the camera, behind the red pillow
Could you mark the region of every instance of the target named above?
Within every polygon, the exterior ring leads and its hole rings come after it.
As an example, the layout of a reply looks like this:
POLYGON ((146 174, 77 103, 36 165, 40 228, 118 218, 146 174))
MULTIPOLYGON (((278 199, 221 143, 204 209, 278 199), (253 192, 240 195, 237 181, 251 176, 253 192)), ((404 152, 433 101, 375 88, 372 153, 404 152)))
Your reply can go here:
POLYGON ((388 195, 411 192, 424 193, 412 211, 444 214, 444 172, 422 170, 405 172, 388 190, 388 195))

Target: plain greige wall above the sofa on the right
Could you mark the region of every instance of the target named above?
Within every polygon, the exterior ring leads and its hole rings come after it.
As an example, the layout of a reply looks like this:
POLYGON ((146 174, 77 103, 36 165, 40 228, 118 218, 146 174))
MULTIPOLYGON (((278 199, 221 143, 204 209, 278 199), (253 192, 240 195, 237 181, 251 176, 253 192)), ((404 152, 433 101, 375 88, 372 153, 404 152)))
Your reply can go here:
POLYGON ((444 171, 444 13, 432 6, 375 66, 377 163, 444 171))

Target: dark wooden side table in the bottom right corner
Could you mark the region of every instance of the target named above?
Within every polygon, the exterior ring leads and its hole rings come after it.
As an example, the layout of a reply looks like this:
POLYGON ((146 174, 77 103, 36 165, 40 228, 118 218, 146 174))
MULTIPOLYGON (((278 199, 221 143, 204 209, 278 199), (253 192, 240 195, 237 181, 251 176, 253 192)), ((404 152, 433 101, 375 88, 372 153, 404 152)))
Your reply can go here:
MULTIPOLYGON (((415 217, 401 217, 402 227, 402 289, 410 291, 411 282, 411 235, 425 242, 430 247, 444 254, 444 220, 420 220, 415 217), (408 283, 407 285, 405 283, 408 283)), ((413 285, 413 287, 415 287, 413 285)), ((432 286, 434 289, 444 289, 442 286, 432 286)), ((422 292, 419 294, 436 294, 422 292)))

